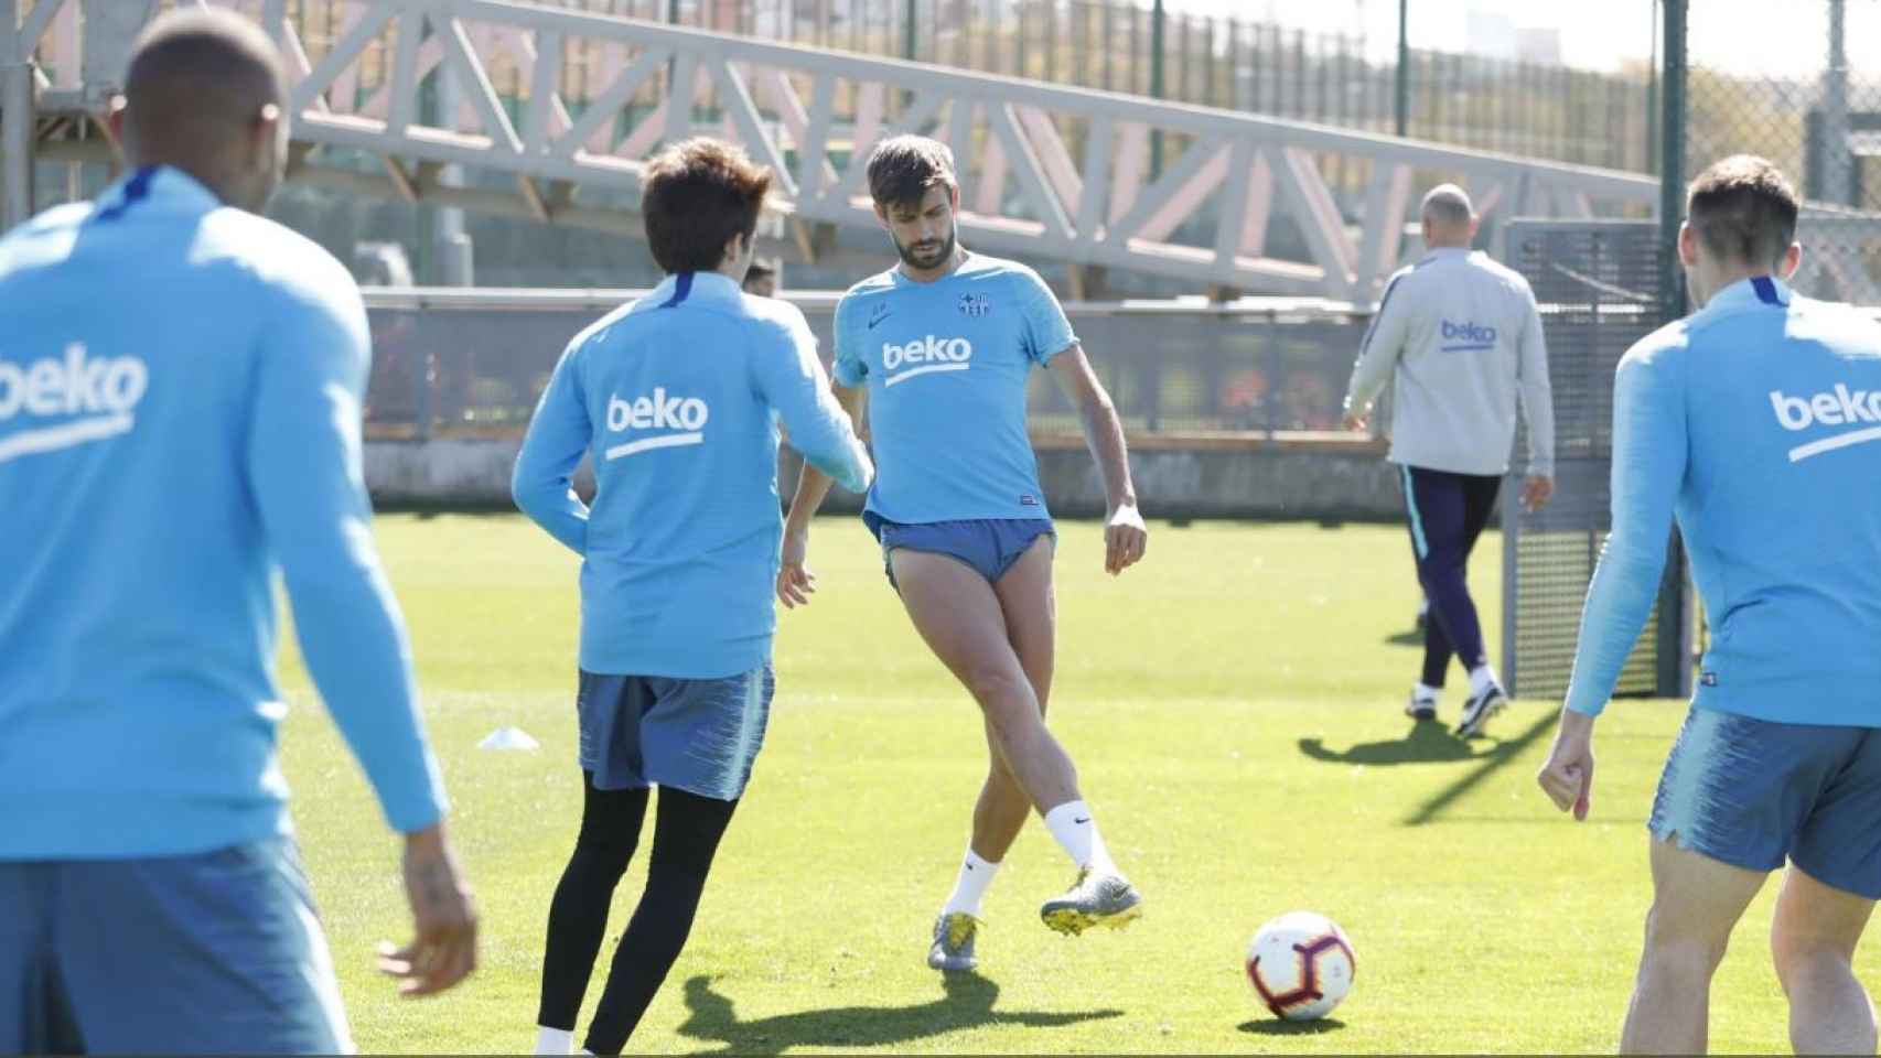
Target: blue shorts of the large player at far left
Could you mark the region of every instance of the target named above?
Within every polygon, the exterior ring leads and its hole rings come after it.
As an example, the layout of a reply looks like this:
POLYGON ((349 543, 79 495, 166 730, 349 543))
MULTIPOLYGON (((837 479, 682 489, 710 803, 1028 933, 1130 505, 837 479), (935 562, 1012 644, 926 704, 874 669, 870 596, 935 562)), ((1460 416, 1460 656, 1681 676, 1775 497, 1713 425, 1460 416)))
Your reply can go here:
POLYGON ((0 863, 0 1054, 350 1050, 290 838, 0 863))

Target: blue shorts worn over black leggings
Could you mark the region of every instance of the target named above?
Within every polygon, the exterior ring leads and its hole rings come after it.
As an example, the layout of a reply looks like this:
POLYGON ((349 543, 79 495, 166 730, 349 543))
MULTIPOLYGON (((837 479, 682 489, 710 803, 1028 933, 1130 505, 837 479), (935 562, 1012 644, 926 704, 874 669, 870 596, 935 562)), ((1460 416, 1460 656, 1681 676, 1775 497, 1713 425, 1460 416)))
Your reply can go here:
POLYGON ((777 677, 766 661, 717 680, 581 673, 581 770, 594 789, 670 786, 737 801, 764 748, 777 677))

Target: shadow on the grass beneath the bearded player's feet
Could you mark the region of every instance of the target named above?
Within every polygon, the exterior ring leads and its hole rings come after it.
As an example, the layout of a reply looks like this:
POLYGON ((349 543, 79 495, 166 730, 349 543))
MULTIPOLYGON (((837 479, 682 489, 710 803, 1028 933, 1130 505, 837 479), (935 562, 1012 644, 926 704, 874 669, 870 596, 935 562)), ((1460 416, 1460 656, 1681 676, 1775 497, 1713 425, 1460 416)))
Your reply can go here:
POLYGON ((957 1028, 1023 1024, 1057 1028, 1121 1017, 1123 1011, 995 1011, 999 985, 978 973, 944 973, 946 996, 907 1007, 828 1007, 756 1020, 739 1020, 730 996, 713 990, 709 975, 687 981, 690 1015, 679 1035, 722 1043, 711 1054, 782 1054, 792 1047, 895 1047, 957 1028))

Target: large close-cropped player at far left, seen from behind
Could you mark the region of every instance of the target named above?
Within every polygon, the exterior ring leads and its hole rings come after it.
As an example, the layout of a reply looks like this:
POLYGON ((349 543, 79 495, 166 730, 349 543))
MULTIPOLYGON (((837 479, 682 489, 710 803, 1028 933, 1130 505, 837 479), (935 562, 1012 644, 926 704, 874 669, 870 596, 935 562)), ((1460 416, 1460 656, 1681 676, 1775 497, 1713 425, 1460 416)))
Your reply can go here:
POLYGON ((286 98, 252 23, 158 19, 126 177, 0 242, 0 1050, 352 1047, 275 752, 277 569, 404 834, 418 940, 382 968, 476 964, 361 479, 365 306, 256 216, 286 98))

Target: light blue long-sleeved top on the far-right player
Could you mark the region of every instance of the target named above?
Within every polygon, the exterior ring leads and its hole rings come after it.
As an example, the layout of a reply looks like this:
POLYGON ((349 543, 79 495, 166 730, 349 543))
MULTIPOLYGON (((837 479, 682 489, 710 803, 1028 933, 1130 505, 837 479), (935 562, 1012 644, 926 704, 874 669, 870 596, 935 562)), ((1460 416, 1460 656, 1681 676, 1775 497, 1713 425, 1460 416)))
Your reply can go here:
POLYGON ((1620 361, 1612 492, 1569 708, 1612 695, 1676 517, 1712 626, 1695 705, 1881 727, 1881 325, 1768 276, 1717 291, 1620 361))

